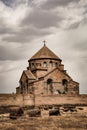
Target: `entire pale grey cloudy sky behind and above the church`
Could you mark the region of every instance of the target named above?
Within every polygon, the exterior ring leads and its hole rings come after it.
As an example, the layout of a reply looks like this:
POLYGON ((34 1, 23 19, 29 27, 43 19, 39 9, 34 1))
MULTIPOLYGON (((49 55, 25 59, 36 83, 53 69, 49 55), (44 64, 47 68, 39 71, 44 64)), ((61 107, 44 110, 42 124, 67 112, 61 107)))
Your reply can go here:
POLYGON ((87 93, 87 0, 0 0, 0 93, 15 92, 43 40, 87 93))

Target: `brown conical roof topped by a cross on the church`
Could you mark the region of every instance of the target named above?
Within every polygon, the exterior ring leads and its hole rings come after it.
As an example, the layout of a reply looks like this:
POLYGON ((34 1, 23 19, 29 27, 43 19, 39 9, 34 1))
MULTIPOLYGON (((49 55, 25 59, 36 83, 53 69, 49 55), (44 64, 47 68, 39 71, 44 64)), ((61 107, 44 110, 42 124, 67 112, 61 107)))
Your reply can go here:
POLYGON ((56 59, 56 60, 61 60, 45 44, 35 55, 33 55, 30 58, 30 60, 35 60, 35 59, 56 59))

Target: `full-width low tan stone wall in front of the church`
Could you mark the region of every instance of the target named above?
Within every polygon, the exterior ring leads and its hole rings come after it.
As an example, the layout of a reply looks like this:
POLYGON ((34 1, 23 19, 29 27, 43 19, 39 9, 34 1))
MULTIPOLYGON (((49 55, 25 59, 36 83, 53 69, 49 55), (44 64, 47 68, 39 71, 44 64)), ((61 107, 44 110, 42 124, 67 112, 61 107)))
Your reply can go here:
POLYGON ((87 105, 87 95, 0 94, 0 106, 87 105))

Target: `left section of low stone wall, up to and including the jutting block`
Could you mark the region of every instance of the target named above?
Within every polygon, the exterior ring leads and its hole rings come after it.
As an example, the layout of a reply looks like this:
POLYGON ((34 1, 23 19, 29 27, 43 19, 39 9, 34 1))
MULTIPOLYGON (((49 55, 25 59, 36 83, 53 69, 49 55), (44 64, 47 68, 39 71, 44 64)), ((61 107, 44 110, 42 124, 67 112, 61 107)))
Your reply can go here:
POLYGON ((0 94, 0 106, 34 105, 34 98, 29 94, 0 94))

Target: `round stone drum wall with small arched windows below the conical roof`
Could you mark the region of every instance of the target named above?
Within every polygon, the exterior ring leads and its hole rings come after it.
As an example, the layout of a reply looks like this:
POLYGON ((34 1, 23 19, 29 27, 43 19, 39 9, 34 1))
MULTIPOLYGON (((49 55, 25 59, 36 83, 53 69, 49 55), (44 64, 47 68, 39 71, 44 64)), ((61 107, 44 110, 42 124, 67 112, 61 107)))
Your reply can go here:
POLYGON ((29 68, 32 71, 32 73, 36 77, 42 77, 45 74, 47 74, 49 71, 53 70, 56 68, 56 63, 58 63, 58 67, 63 70, 64 66, 60 63, 59 60, 50 60, 50 59, 41 59, 41 60, 32 60, 29 63, 29 68), (52 66, 50 66, 50 61, 52 62, 52 66), (46 67, 43 66, 43 63, 46 62, 46 67), (33 65, 32 65, 33 63, 33 65), (38 66, 39 64, 39 66, 38 66), (35 71, 34 71, 35 70, 35 71), (47 70, 47 71, 45 71, 47 70))

